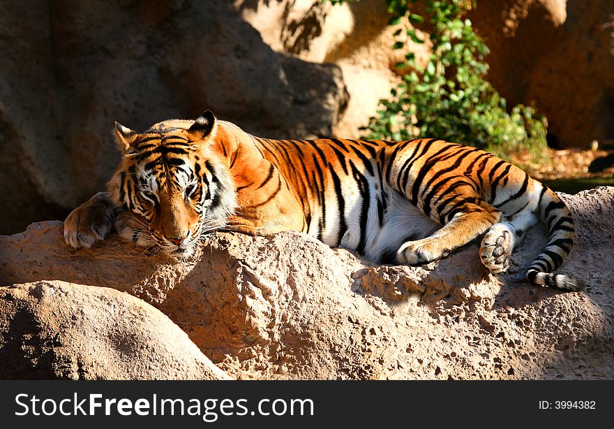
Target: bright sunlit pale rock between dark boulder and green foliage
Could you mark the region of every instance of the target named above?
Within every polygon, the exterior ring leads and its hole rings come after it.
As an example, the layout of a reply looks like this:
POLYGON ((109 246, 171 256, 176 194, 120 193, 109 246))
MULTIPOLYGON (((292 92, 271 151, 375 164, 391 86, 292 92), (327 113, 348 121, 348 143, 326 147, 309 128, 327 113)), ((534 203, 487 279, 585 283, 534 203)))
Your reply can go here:
MULTIPOLYGON (((361 126, 374 116, 381 99, 400 83, 395 64, 403 50, 392 50, 396 27, 381 0, 346 1, 333 6, 320 0, 235 0, 241 17, 260 32, 262 40, 278 52, 305 61, 333 63, 343 71, 350 99, 334 135, 359 138, 361 126)), ((424 65, 426 45, 408 42, 424 65)))

